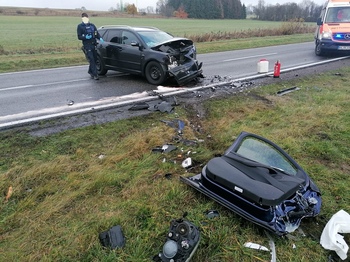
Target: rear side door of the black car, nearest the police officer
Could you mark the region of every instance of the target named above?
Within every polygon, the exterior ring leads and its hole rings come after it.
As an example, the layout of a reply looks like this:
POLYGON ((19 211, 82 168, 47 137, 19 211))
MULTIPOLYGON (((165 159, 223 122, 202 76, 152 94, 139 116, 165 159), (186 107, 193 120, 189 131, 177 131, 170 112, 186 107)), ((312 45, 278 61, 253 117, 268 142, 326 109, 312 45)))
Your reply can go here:
MULTIPOLYGON (((118 67, 118 43, 120 30, 110 29, 107 30, 107 33, 103 37, 103 40, 106 42, 101 44, 102 48, 105 49, 103 59, 107 67, 118 67)), ((101 45, 99 45, 99 47, 101 45)))

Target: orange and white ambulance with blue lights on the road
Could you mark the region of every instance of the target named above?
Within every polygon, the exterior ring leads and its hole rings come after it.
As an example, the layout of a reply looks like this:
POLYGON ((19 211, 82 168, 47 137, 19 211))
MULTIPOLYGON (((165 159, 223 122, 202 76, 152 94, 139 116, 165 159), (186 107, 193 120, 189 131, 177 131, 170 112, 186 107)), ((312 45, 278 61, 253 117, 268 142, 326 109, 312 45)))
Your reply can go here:
POLYGON ((317 18, 315 53, 350 52, 350 2, 329 0, 317 18))

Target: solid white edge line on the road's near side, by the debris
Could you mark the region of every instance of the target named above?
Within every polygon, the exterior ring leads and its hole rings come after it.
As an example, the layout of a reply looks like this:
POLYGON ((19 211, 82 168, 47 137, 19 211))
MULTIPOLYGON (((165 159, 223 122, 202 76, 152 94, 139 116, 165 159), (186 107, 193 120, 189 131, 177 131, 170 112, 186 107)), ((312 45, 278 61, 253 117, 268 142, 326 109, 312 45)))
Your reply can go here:
MULTIPOLYGON (((338 58, 333 58, 333 59, 329 59, 329 60, 323 60, 323 61, 319 61, 319 62, 316 62, 316 63, 307 64, 307 65, 301 65, 301 66, 285 68, 285 69, 281 70, 280 72, 291 71, 291 70, 295 70, 295 69, 299 69, 299 68, 305 68, 305 67, 309 67, 309 66, 313 66, 313 65, 325 64, 325 63, 328 63, 328 62, 331 62, 331 61, 341 60, 341 59, 345 59, 345 58, 349 58, 349 57, 350 56, 338 57, 338 58)), ((272 74, 272 73, 273 72, 268 72, 266 74, 272 74)), ((211 87, 211 86, 225 85, 225 84, 229 84, 229 83, 232 83, 232 82, 243 81, 243 80, 259 78, 259 77, 266 77, 266 75, 265 74, 252 75, 250 77, 234 79, 234 80, 227 81, 227 82, 222 82, 222 83, 214 83, 214 84, 211 84, 211 85, 208 85, 208 86, 199 86, 199 87, 193 87, 193 88, 189 88, 189 89, 177 90, 177 91, 174 91, 174 92, 165 93, 163 95, 164 96, 172 96, 172 95, 185 93, 185 92, 188 92, 188 91, 195 91, 195 90, 198 90, 198 89, 208 88, 208 87, 211 87)), ((57 113, 57 114, 51 114, 51 115, 47 115, 47 116, 33 117, 33 118, 27 118, 27 119, 7 122, 7 123, 0 124, 0 128, 10 128, 10 127, 15 126, 15 125, 23 125, 23 124, 30 123, 30 122, 41 121, 41 120, 44 120, 44 119, 57 118, 57 117, 62 117, 62 116, 67 116, 67 115, 83 114, 83 113, 87 113, 87 112, 93 112, 93 111, 98 110, 98 109, 108 109, 108 108, 113 108, 113 107, 121 107, 123 105, 127 105, 127 104, 134 103, 134 102, 153 101, 153 100, 157 100, 157 99, 158 99, 158 97, 154 97, 154 96, 140 97, 140 98, 133 99, 133 100, 121 101, 121 102, 116 102, 116 103, 112 103, 112 104, 99 105, 99 106, 94 107, 94 109, 91 109, 91 107, 89 107, 89 108, 82 108, 82 109, 77 109, 77 110, 73 110, 73 111, 67 111, 67 112, 61 112, 61 113, 57 113)))

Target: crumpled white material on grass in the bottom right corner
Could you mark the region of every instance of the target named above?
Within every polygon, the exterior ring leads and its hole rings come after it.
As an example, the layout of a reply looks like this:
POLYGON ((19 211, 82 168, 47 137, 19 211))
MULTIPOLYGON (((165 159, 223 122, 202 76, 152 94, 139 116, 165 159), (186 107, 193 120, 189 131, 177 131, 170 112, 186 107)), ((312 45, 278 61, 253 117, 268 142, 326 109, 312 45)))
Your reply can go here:
POLYGON ((350 214, 344 210, 338 211, 329 219, 323 229, 320 244, 325 249, 334 250, 342 260, 345 260, 349 247, 344 236, 338 233, 350 233, 350 214))

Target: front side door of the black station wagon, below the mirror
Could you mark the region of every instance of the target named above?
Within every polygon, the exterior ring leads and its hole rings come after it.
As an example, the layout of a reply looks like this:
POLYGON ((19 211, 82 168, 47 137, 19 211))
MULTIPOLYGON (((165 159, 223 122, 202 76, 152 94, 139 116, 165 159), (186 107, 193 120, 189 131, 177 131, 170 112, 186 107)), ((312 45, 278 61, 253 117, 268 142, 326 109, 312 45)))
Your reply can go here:
POLYGON ((118 45, 118 67, 141 72, 141 50, 138 46, 131 46, 132 41, 136 41, 141 45, 141 41, 135 34, 122 30, 118 45))

